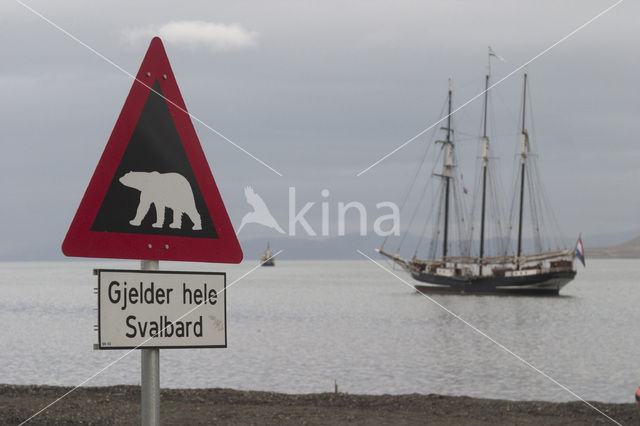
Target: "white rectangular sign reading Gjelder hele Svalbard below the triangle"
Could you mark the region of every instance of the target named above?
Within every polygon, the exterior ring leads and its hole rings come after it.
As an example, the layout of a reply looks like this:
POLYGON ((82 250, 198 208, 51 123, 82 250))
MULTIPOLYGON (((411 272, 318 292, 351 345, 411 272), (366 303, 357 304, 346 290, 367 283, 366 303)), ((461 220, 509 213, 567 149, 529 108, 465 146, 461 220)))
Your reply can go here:
POLYGON ((100 349, 227 347, 224 272, 97 273, 100 349))

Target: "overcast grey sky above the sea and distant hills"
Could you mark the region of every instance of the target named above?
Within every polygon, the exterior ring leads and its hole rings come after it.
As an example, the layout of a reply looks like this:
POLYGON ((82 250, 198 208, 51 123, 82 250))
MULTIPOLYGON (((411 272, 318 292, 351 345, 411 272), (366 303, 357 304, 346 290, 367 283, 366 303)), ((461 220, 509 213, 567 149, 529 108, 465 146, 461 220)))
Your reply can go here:
MULTIPOLYGON (((132 74, 162 37, 189 111, 283 174, 195 124, 234 226, 250 210, 245 186, 286 226, 294 186, 298 205, 316 202, 307 217, 319 230, 322 201, 332 215, 361 201, 373 217, 375 203, 400 202, 428 135, 356 174, 439 118, 449 77, 457 105, 480 92, 488 45, 506 59, 493 61, 497 81, 615 2, 25 3, 132 74)), ((623 2, 527 67, 531 130, 566 236, 640 229, 638 16, 623 2)), ((12 0, 0 35, 0 258, 55 256, 132 81, 12 0)), ((518 72, 491 95, 505 178, 521 84, 518 72)), ((459 134, 479 132, 480 107, 454 116, 459 134)), ((269 232, 251 225, 240 238, 269 232)))

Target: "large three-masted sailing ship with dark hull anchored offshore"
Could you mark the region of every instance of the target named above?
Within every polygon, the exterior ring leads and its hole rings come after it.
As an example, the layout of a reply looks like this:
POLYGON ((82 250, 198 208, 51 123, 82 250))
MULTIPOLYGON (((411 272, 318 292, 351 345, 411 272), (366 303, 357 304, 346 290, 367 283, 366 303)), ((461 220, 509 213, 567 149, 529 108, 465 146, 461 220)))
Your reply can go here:
MULTIPOLYGON (((384 257, 406 270, 417 281, 414 287, 422 292, 462 293, 462 294, 521 294, 521 295, 557 295, 562 287, 567 285, 575 276, 574 259, 576 250, 555 249, 544 247, 541 239, 544 221, 540 214, 546 199, 543 187, 538 182, 535 155, 531 151, 531 141, 525 126, 527 100, 527 74, 524 74, 522 101, 522 126, 520 130, 520 150, 517 154, 517 173, 514 173, 514 196, 511 203, 510 226, 501 219, 504 210, 496 202, 496 176, 493 170, 493 157, 490 155, 489 137, 487 135, 487 103, 489 96, 489 73, 485 78, 484 105, 482 117, 480 168, 477 173, 477 194, 480 200, 476 202, 471 215, 464 209, 464 200, 456 195, 456 189, 462 189, 464 194, 468 190, 460 183, 456 169, 456 149, 454 130, 452 128, 452 88, 447 97, 446 127, 444 140, 436 141, 441 145, 442 169, 433 173, 431 178, 439 180, 433 191, 436 203, 435 214, 431 226, 429 255, 418 257, 418 249, 412 258, 400 256, 399 249, 395 253, 382 247, 377 251, 384 257), (528 201, 528 202, 525 202, 528 201), (478 205, 479 204, 479 205, 478 205), (531 235, 523 236, 525 219, 525 205, 531 212, 527 214, 533 224, 531 235), (490 208, 493 212, 490 212, 490 208), (479 209, 479 214, 478 213, 479 209), (462 219, 453 219, 453 214, 463 215, 462 219), (491 213, 491 214, 490 214, 491 213), (464 215, 471 216, 471 220, 464 219, 464 215), (479 220, 478 217, 479 216, 479 220), (494 219, 489 223, 488 219, 494 219), (514 222, 517 220, 517 226, 514 222), (457 234, 452 230, 454 224, 459 225, 457 234), (494 236, 487 238, 487 230, 492 227, 494 236), (478 229, 479 228, 479 229, 478 229), (515 247, 511 234, 517 229, 515 247), (452 232, 455 235, 451 235, 452 232), (479 240, 478 240, 479 237, 479 240), (525 242, 533 246, 525 252, 525 242), (493 253, 487 253, 487 246, 495 246, 493 253), (454 252, 457 249, 457 253, 454 252), (514 250, 515 249, 515 250, 514 250)), ((441 121, 443 121, 441 119, 441 121)), ((420 166, 421 167, 421 166, 420 166)), ((418 174, 416 174, 416 177, 418 174)), ((414 178, 414 183, 416 179, 414 178)), ((413 185, 413 184, 412 184, 413 185)), ((426 192, 423 192, 423 194, 426 192)), ((407 193, 409 194, 409 193, 407 193)), ((419 210, 420 204, 416 208, 419 210)), ((415 212, 414 212, 415 216, 415 212)), ((426 229, 426 226, 425 228, 426 229)), ((556 233, 555 236, 560 233, 556 233)), ((424 236, 424 234, 423 234, 424 236)), ((422 241, 422 236, 420 237, 422 241)), ((404 238, 403 238, 404 241, 404 238)), ((385 240, 386 242, 386 240, 385 240)), ((581 247, 581 239, 579 239, 581 247)), ((420 246, 421 243, 418 243, 420 246)), ((562 243, 561 243, 562 244, 562 243)), ((581 254, 581 252, 580 252, 581 254)), ((583 258, 580 257, 580 260, 583 258)), ((583 261, 584 262, 584 261, 583 261)))

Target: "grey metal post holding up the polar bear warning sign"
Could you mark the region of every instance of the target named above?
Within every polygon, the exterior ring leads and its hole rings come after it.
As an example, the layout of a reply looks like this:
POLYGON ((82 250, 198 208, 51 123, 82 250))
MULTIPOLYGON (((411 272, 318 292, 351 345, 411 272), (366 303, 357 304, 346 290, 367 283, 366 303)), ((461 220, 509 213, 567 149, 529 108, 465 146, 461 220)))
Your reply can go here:
MULTIPOLYGON (((160 262, 157 260, 141 260, 140 269, 157 271, 160 262)), ((142 348, 140 397, 143 426, 160 425, 160 349, 142 348)))

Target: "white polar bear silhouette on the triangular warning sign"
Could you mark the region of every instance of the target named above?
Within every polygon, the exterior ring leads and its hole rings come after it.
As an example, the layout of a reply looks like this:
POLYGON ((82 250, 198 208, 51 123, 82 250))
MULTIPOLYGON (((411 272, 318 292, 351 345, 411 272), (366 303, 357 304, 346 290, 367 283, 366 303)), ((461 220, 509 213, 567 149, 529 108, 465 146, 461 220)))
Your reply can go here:
POLYGON ((164 209, 168 207, 173 210, 173 222, 169 225, 170 228, 181 228, 182 215, 186 214, 193 222, 194 231, 202 229, 202 221, 196 209, 191 185, 181 174, 129 172, 119 180, 124 186, 140 191, 136 217, 129 221, 131 225, 140 226, 153 204, 156 207, 156 223, 152 225, 154 228, 162 228, 164 209))

